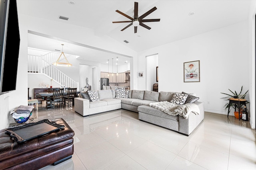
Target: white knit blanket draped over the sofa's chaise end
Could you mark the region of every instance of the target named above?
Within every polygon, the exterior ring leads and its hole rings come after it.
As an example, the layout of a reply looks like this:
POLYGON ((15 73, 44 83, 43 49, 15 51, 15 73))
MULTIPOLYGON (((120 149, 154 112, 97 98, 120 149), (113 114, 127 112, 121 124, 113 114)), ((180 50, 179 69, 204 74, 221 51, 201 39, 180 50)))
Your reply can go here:
POLYGON ((200 110, 196 104, 188 103, 184 105, 173 104, 167 101, 150 103, 149 106, 154 107, 169 115, 181 115, 188 119, 190 112, 199 115, 200 110))

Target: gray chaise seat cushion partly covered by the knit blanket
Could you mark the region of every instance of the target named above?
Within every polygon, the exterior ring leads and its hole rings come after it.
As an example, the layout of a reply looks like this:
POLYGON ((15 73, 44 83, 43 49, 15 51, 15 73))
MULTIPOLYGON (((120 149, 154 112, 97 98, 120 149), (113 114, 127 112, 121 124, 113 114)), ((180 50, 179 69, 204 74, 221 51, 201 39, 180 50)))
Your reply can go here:
POLYGON ((164 113, 163 111, 156 109, 154 107, 150 107, 149 105, 138 106, 138 111, 147 113, 149 115, 154 115, 154 116, 158 116, 158 117, 162 117, 162 118, 166 118, 166 119, 172 119, 175 121, 178 121, 178 119, 179 119, 178 115, 176 115, 176 116, 168 115, 167 113, 164 113))

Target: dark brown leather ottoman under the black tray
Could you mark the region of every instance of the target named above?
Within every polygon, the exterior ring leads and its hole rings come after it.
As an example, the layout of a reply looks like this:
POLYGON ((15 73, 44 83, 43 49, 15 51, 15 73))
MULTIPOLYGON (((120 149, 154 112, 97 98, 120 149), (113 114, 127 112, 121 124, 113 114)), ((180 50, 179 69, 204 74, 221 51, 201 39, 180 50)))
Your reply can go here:
POLYGON ((74 131, 62 118, 50 120, 63 129, 19 143, 6 129, 0 130, 0 169, 40 169, 58 164, 74 153, 74 131))

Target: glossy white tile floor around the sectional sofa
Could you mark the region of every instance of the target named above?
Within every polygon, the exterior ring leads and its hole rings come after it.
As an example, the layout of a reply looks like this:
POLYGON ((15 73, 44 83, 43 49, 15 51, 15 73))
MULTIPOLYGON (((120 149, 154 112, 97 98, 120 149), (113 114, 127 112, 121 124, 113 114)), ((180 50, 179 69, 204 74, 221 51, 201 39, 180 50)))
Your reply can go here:
POLYGON ((255 170, 255 130, 234 116, 205 112, 184 136, 123 109, 82 117, 39 105, 34 121, 62 117, 75 131, 72 159, 42 170, 255 170))

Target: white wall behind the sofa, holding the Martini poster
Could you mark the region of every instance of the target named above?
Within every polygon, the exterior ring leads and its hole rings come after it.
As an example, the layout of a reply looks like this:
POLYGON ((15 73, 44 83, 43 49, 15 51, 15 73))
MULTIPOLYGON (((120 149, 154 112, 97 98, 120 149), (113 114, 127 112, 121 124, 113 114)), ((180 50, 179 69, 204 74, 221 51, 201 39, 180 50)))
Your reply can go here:
MULTIPOLYGON (((145 56, 156 53, 158 90, 196 93, 205 111, 227 114, 220 92, 240 91, 241 86, 249 89, 248 21, 143 51, 138 63, 145 63, 145 56), (196 60, 200 60, 200 82, 184 83, 183 63, 196 60)), ((140 64, 140 70, 145 70, 145 65, 140 64)), ((138 89, 145 88, 138 79, 138 89)))

